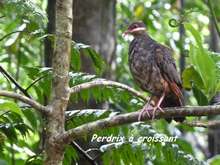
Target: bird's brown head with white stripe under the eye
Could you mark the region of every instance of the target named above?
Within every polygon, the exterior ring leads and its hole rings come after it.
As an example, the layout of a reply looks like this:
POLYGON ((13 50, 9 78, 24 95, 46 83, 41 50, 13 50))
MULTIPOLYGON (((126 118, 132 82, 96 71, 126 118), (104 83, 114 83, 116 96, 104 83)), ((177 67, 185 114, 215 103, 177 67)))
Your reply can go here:
POLYGON ((145 33, 146 26, 143 22, 133 22, 128 26, 128 29, 124 32, 124 35, 131 34, 133 36, 145 33))

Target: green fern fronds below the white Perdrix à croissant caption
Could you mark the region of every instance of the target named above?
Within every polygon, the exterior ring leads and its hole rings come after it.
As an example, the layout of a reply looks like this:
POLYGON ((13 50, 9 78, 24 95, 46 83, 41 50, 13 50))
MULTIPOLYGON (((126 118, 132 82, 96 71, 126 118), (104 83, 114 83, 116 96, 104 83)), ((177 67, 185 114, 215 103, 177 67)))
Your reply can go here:
MULTIPOLYGON (((167 135, 158 133, 150 125, 144 123, 134 123, 129 129, 129 135, 134 137, 132 142, 126 143, 113 143, 109 145, 101 146, 102 152, 104 154, 104 162, 108 164, 109 162, 117 164, 117 162, 122 162, 122 164, 132 163, 134 165, 138 164, 174 164, 177 161, 180 164, 203 164, 193 157, 191 154, 186 154, 181 150, 181 147, 176 142, 149 142, 145 140, 144 142, 138 141, 140 137, 157 137, 162 138, 167 135)), ((128 137, 129 138, 129 137, 128 137)), ((187 150, 191 152, 191 150, 187 150)))

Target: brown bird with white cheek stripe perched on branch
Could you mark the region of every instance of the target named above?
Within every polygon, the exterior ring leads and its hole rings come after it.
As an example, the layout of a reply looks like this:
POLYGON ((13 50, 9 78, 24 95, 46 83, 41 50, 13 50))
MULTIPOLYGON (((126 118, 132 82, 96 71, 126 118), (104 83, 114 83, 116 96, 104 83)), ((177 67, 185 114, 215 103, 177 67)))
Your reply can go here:
MULTIPOLYGON (((139 113, 140 121, 143 114, 152 112, 152 119, 156 110, 164 112, 164 107, 178 107, 184 105, 182 82, 177 72, 171 48, 158 43, 146 32, 142 21, 130 24, 124 35, 132 35, 129 44, 128 63, 130 72, 136 84, 151 94, 149 101, 139 113)), ((177 122, 184 117, 167 118, 168 122, 174 119, 177 122)))

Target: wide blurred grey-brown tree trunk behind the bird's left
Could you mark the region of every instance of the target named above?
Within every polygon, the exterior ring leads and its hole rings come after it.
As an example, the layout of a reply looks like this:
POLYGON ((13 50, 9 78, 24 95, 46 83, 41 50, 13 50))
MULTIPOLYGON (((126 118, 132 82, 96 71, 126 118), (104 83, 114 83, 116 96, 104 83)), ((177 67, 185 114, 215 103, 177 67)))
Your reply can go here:
MULTIPOLYGON (((115 0, 75 0, 73 3, 73 40, 76 42, 91 45, 97 52, 102 55, 108 66, 114 61, 115 55, 115 0)), ((93 74, 91 59, 81 55, 82 71, 93 74)), ((112 78, 111 68, 107 68, 105 77, 112 78)), ((75 108, 85 108, 85 103, 80 101, 75 108)), ((101 107, 93 100, 89 102, 90 108, 101 107)), ((85 141, 78 141, 80 146, 85 150, 88 148, 98 147, 98 144, 91 144, 85 141)), ((96 157, 97 152, 89 153, 91 157, 96 157)), ((99 154, 99 153, 98 153, 99 154)), ((88 158, 79 154, 79 164, 91 164, 88 158)), ((97 160, 97 159, 96 159, 97 160)), ((98 160, 97 160, 98 161, 98 160)), ((94 162, 95 164, 95 162, 94 162)))

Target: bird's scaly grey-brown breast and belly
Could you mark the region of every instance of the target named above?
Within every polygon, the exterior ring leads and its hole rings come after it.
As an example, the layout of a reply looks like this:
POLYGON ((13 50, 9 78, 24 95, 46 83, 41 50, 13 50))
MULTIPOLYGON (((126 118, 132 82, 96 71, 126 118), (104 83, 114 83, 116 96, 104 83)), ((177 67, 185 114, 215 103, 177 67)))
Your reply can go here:
POLYGON ((134 80, 140 88, 155 95, 160 95, 163 92, 164 80, 150 48, 142 45, 142 43, 131 43, 129 67, 134 80))

